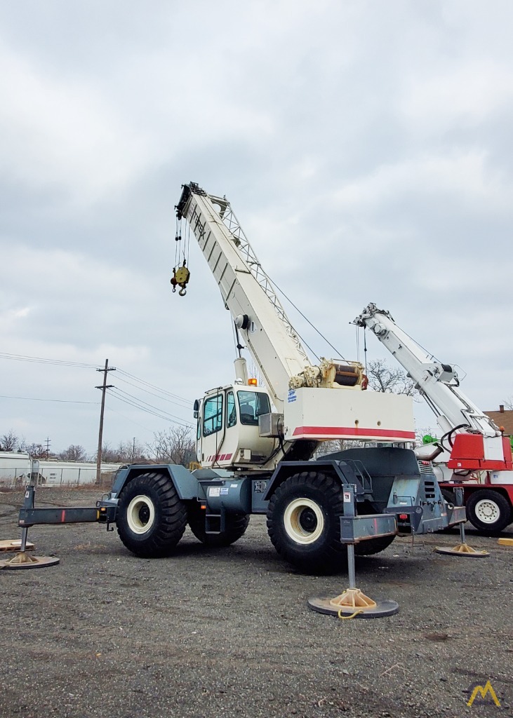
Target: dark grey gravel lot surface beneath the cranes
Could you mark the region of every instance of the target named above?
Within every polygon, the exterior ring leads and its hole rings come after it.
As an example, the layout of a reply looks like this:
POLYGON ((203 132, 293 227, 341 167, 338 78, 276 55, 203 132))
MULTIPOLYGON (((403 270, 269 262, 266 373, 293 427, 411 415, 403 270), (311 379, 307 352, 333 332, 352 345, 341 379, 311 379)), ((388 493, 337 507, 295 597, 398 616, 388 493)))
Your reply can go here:
MULTIPOLYGON (((36 504, 97 498, 42 489, 36 504)), ((0 494, 0 538, 19 537, 21 503, 0 494)), ((263 517, 228 549, 187 531, 175 556, 153 560, 96 524, 34 526, 36 553, 60 564, 0 571, 0 716, 513 716, 513 549, 470 530, 488 559, 433 553, 457 538, 399 538, 360 559, 361 589, 400 611, 339 620, 305 602, 341 593, 346 574, 283 564, 263 517), (501 707, 489 694, 467 707, 487 680, 501 707)))

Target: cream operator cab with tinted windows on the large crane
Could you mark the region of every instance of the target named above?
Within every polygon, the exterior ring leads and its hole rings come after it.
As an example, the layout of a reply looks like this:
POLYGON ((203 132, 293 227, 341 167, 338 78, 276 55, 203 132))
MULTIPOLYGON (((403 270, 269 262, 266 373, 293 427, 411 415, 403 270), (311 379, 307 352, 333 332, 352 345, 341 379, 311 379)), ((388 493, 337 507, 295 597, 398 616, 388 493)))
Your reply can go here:
POLYGON ((239 383, 211 389, 195 401, 194 409, 202 467, 259 467, 277 447, 277 439, 260 436, 259 416, 271 413, 262 387, 239 383))

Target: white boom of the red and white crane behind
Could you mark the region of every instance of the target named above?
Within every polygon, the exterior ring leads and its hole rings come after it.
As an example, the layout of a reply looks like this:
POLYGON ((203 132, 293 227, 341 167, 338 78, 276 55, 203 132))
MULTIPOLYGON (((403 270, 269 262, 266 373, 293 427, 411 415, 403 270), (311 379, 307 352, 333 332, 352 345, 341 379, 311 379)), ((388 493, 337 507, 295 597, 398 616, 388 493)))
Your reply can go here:
MULTIPOLYGON (((428 354, 394 322, 392 314, 369 304, 354 320, 366 327, 394 355, 407 371, 435 414, 445 416, 450 426, 466 424, 484 437, 498 437, 500 430, 476 404, 458 388, 458 374, 428 354)), ((439 421, 440 423, 440 421, 439 421)), ((440 424, 442 426, 442 424, 440 424)), ((445 429, 445 427, 443 427, 445 429)))

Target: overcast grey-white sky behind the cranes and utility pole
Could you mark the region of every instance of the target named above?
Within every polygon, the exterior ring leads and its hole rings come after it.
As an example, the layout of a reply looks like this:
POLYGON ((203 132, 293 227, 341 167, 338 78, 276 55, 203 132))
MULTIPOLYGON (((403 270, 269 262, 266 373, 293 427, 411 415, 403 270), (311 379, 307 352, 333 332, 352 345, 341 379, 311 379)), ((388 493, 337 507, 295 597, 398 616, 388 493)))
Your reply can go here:
MULTIPOLYGON (((0 434, 93 452, 106 358, 191 403, 232 381, 195 243, 187 296, 170 289, 190 180, 228 197, 346 358, 348 322, 376 302, 498 409, 513 394, 512 27, 509 0, 0 0, 0 352, 92 365, 0 358, 0 434)), ((375 337, 368 350, 394 364, 375 337)), ((126 373, 109 382, 193 421, 126 373)), ((107 406, 113 445, 170 426, 107 406)))

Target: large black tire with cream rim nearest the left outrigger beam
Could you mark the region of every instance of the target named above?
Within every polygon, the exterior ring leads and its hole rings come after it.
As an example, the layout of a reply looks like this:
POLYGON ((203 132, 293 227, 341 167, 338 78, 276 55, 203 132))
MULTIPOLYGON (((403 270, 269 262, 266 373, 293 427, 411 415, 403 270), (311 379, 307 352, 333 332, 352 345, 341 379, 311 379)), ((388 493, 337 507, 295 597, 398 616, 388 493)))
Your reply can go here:
POLYGON ((121 490, 116 518, 119 538, 145 559, 169 556, 187 525, 187 508, 170 477, 148 473, 121 490))

